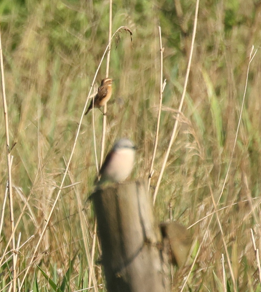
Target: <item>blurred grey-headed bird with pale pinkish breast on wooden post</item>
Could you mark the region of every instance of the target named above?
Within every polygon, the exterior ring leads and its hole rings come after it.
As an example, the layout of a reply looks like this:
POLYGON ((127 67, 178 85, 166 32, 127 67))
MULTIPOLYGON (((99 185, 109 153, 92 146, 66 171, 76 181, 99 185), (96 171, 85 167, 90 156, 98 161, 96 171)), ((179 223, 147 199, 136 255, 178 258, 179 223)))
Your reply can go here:
POLYGON ((97 179, 96 183, 99 185, 106 181, 122 183, 132 172, 135 149, 132 141, 127 138, 117 141, 107 154, 99 172, 100 180, 98 182, 97 179))

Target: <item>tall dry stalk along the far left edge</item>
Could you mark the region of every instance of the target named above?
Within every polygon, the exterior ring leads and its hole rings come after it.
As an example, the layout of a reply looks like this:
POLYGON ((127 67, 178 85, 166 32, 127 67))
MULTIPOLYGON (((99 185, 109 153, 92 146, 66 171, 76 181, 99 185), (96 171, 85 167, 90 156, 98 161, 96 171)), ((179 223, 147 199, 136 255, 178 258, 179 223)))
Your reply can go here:
MULTIPOLYGON (((6 103, 6 88, 3 72, 3 50, 1 41, 1 29, 0 29, 0 67, 1 67, 1 83, 3 94, 3 112, 6 128, 6 156, 7 156, 7 168, 8 168, 8 191, 9 191, 9 208, 10 208, 10 225, 11 232, 14 230, 14 212, 13 212, 13 192, 12 192, 12 173, 11 173, 11 158, 10 158, 10 141, 9 141, 9 128, 8 128, 8 115, 7 115, 7 103, 6 103)), ((12 236, 12 249, 15 249, 15 236, 12 236)), ((16 268, 15 268, 15 254, 13 254, 13 291, 16 291, 16 268)))

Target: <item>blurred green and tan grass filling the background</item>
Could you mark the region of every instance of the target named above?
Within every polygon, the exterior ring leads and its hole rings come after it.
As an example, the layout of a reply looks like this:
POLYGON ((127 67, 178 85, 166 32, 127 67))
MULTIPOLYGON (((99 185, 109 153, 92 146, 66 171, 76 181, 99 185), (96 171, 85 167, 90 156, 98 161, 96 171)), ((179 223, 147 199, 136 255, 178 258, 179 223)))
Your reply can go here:
MULTIPOLYGON (((50 213, 76 135, 93 76, 108 43, 109 1, 2 0, 1 39, 11 145, 17 143, 12 180, 15 223, 31 197, 15 233, 21 243, 18 270, 31 251, 50 213)), ((115 139, 126 136, 139 147, 133 178, 148 177, 157 118, 160 86, 158 26, 164 46, 163 74, 167 85, 155 173, 155 186, 175 122, 183 90, 192 37, 195 1, 113 1, 113 29, 125 25, 133 32, 119 33, 112 42, 109 77, 114 79, 108 103, 106 152, 115 139)), ((184 117, 169 156, 155 204, 158 220, 178 219, 186 226, 213 211, 210 188, 217 200, 231 158, 252 45, 260 46, 261 1, 200 1, 195 48, 183 107, 184 117)), ((105 77, 103 62, 97 85, 105 77)), ((225 190, 218 208, 238 291, 261 291, 253 228, 260 249, 261 188, 261 55, 250 66, 239 137, 225 190), (244 200, 247 200, 243 202, 244 200), (232 204, 237 203, 232 206, 232 204)), ((95 110, 96 138, 101 138, 102 115, 95 110)), ((7 180, 5 128, 1 119, 1 199, 7 180)), ((87 288, 88 263, 83 243, 91 249, 94 216, 86 198, 96 176, 91 114, 84 118, 64 185, 36 263, 57 286, 71 265, 65 291, 87 288), (80 198, 80 201, 77 201, 80 198), (84 208, 84 211, 82 209, 84 208), (79 212, 84 215, 81 227, 79 212), (75 259, 72 262, 73 256, 75 259)), ((195 251, 208 219, 192 228, 195 251)), ((1 250, 10 237, 5 210, 1 250)), ((186 291, 224 291, 222 237, 214 216, 186 291)), ((99 259, 96 248, 94 263, 99 259)), ((193 255, 192 255, 193 257, 193 255)), ((232 281, 225 258, 227 291, 232 281)), ((0 267, 0 287, 10 281, 11 261, 0 267)), ((187 268, 173 270, 172 291, 179 291, 187 268)), ((33 266, 23 291, 50 291, 50 281, 33 266)), ((104 282, 95 266, 98 284, 104 282)), ((23 274, 19 277, 22 278, 23 274)), ((60 287, 61 288, 61 287, 60 287)), ((61 290, 63 290, 61 288, 61 290)), ((103 288, 105 290, 105 288, 103 288)), ((92 290, 92 289, 91 289, 92 290)), ((7 291, 4 289, 4 291, 7 291)))

